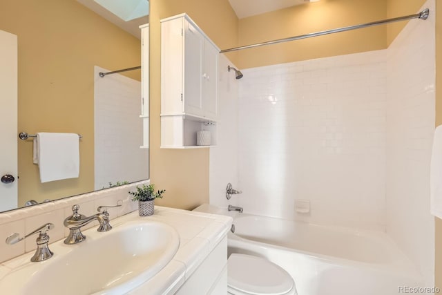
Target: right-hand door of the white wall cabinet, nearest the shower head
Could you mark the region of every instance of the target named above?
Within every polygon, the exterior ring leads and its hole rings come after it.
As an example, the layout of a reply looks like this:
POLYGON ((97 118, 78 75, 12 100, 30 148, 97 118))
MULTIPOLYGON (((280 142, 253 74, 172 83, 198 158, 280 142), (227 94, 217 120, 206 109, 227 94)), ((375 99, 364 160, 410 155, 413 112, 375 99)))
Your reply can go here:
POLYGON ((204 73, 202 108, 204 117, 209 120, 216 120, 218 106, 218 48, 205 40, 204 44, 204 73))

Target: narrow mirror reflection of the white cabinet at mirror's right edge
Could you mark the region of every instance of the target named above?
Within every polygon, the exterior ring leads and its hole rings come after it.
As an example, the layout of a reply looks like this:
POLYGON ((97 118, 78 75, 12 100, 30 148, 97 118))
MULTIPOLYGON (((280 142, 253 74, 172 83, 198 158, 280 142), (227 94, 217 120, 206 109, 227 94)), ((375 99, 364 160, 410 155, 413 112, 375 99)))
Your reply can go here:
POLYGON ((140 26, 141 29, 141 115, 143 120, 142 149, 149 147, 149 25, 140 26))

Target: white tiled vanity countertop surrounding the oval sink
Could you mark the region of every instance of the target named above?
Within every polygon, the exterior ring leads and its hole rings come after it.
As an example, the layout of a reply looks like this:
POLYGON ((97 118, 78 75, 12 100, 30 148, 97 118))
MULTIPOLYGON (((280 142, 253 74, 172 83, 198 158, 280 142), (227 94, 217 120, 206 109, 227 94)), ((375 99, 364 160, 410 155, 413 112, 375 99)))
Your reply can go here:
MULTIPOLYGON (((148 294, 174 294, 226 236, 232 223, 229 216, 155 206, 153 216, 142 217, 138 216, 138 211, 133 211, 111 220, 111 225, 118 227, 134 220, 152 220, 170 225, 180 236, 180 246, 160 272, 128 293, 133 295, 146 294, 146 290, 148 294)), ((0 279, 30 263, 32 255, 33 251, 2 263, 0 279)))

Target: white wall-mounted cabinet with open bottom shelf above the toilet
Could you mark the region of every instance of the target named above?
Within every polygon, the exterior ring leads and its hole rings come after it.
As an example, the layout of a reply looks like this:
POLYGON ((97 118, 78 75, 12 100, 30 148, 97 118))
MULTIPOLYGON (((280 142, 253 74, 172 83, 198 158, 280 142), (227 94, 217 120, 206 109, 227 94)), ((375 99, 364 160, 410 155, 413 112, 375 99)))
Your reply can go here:
POLYGON ((220 49, 186 14, 161 21, 162 148, 194 148, 196 133, 216 143, 220 49))

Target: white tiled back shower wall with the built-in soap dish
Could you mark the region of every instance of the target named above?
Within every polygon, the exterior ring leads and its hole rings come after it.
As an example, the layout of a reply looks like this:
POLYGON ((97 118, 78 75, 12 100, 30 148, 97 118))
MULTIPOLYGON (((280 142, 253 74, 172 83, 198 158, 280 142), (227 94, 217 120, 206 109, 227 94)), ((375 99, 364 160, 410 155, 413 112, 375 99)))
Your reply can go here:
POLYGON ((385 50, 243 70, 238 197, 244 211, 385 225, 385 50), (298 213, 296 200, 309 200, 298 213))

